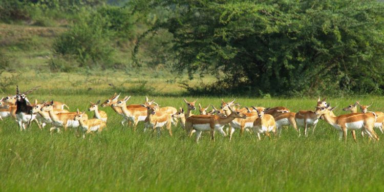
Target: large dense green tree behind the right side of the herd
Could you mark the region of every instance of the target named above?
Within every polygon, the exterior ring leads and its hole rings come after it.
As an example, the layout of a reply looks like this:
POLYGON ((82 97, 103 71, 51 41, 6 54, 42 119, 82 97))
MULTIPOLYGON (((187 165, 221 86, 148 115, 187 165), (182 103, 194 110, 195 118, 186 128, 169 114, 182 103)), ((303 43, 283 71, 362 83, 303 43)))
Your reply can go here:
MULTIPOLYGON (((153 1, 151 1, 153 2, 153 1)), ((382 93, 384 6, 377 1, 173 1, 166 28, 180 73, 211 91, 382 93)))

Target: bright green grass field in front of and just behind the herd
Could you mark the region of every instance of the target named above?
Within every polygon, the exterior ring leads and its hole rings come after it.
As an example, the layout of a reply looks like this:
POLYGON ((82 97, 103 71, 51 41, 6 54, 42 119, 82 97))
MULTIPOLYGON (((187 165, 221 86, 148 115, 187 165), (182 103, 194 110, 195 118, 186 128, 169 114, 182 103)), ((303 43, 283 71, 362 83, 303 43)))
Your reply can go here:
MULTIPOLYGON (((29 99, 56 99, 74 111, 85 110, 89 101, 103 101, 112 94, 39 91, 29 95, 29 99)), ((356 99, 362 103, 374 101, 372 111, 384 108, 383 97, 328 101, 338 106, 337 115, 356 99)), ((133 95, 127 103, 143 101, 144 96, 133 95)), ((185 109, 182 97, 157 96, 156 101, 162 106, 185 109)), ((219 106, 220 98, 204 97, 198 102, 219 106)), ((282 105, 291 111, 312 110, 315 105, 315 99, 302 98, 237 98, 237 102, 243 106, 282 105)), ((143 123, 133 132, 130 127, 121 126, 121 117, 111 108, 102 110, 109 115, 107 129, 86 139, 76 137, 73 130, 50 136, 49 125, 42 131, 32 125, 30 130, 20 132, 11 119, 1 121, 0 191, 384 190, 382 141, 368 142, 358 135, 358 143, 354 143, 349 133, 344 143, 323 120, 308 138, 298 138, 288 127, 281 138, 258 141, 247 133, 240 137, 237 130, 232 142, 220 134, 212 142, 205 133, 196 144, 180 126, 173 127, 173 137, 166 131, 161 137, 142 133, 143 123)))

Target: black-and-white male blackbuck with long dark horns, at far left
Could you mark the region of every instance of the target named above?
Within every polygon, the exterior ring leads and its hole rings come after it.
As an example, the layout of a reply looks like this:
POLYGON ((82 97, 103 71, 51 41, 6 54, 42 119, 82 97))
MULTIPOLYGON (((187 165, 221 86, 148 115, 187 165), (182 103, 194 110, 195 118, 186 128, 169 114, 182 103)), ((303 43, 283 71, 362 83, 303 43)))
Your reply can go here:
POLYGON ((35 121, 38 124, 37 120, 35 120, 36 115, 32 113, 33 106, 28 104, 29 101, 26 97, 27 94, 37 88, 38 87, 35 87, 27 92, 20 93, 18 86, 16 86, 16 120, 20 131, 23 131, 23 129, 26 130, 27 126, 29 126, 32 121, 35 121), (27 126, 26 123, 28 123, 27 126))

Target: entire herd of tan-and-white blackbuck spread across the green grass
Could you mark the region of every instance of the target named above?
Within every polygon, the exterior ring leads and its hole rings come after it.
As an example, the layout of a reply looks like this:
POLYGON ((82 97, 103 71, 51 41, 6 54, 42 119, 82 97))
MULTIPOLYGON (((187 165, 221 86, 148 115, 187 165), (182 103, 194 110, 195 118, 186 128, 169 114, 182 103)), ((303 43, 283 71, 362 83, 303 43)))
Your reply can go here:
POLYGON ((292 126, 298 136, 301 136, 300 129, 303 127, 304 135, 307 137, 310 128, 312 128, 312 132, 315 131, 319 119, 324 119, 332 125, 338 131, 340 139, 347 139, 347 131, 351 131, 354 141, 356 141, 355 130, 360 130, 363 137, 368 135, 369 139, 376 140, 379 140, 379 137, 374 128, 378 128, 383 133, 384 113, 368 111, 372 103, 362 105, 358 101, 343 109, 343 111, 350 111, 350 114, 336 116, 333 113, 335 107, 332 108, 326 99, 321 98, 317 99, 315 111, 298 111, 297 113, 290 112, 284 106, 240 108, 240 104, 234 103, 234 99, 230 102, 222 99, 220 110, 211 104, 202 108, 199 103, 200 115, 194 115, 193 111, 197 109, 197 99, 193 102, 183 99, 186 104, 186 112, 184 112, 182 107, 179 110, 172 106, 160 108, 159 104, 154 100, 150 101, 148 97, 145 98, 143 104, 126 105, 131 96, 118 100, 120 94, 115 93, 101 104, 100 100, 96 103, 91 102, 88 111, 93 112, 94 116, 89 118, 86 111, 79 112, 77 109, 76 112, 69 112, 69 107, 58 101, 38 103, 35 100, 34 103, 30 103, 26 95, 36 88, 20 93, 16 87, 16 95, 3 97, 0 100, 0 120, 7 117, 14 119, 20 131, 26 130, 32 122, 35 122, 39 129, 44 129, 46 125, 50 124, 51 134, 55 130, 60 132, 61 127, 64 130, 80 127, 82 136, 85 137, 88 133, 101 132, 106 127, 108 117, 104 111, 99 110, 100 105, 102 108, 111 106, 113 111, 122 116, 121 124, 123 126, 131 125, 135 131, 138 122, 144 121, 144 132, 150 129, 154 132, 157 131, 160 135, 162 128, 165 127, 172 136, 172 126, 176 126, 180 121, 188 136, 196 135, 196 142, 199 141, 201 133, 204 131, 209 131, 212 140, 215 140, 215 131, 223 136, 229 134, 229 140, 231 140, 233 132, 237 129, 240 130, 241 135, 244 130, 253 132, 260 140, 261 134, 270 136, 270 132, 280 136, 283 126, 292 126), (207 112, 210 106, 212 111, 207 112), (357 112, 357 106, 361 113, 357 112), (226 131, 223 130, 224 127, 226 127, 226 131))

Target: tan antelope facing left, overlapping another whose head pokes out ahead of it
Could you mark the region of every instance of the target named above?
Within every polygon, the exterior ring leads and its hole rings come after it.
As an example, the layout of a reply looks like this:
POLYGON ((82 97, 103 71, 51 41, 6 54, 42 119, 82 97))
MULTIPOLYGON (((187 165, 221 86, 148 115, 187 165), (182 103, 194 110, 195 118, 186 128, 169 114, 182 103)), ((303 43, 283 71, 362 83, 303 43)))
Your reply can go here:
POLYGON ((147 116, 147 109, 142 106, 140 106, 140 108, 131 105, 127 106, 126 101, 128 101, 130 98, 131 96, 125 96, 122 100, 113 103, 111 106, 113 108, 120 108, 125 119, 133 122, 133 130, 136 131, 137 123, 139 123, 139 121, 145 121, 147 116))

